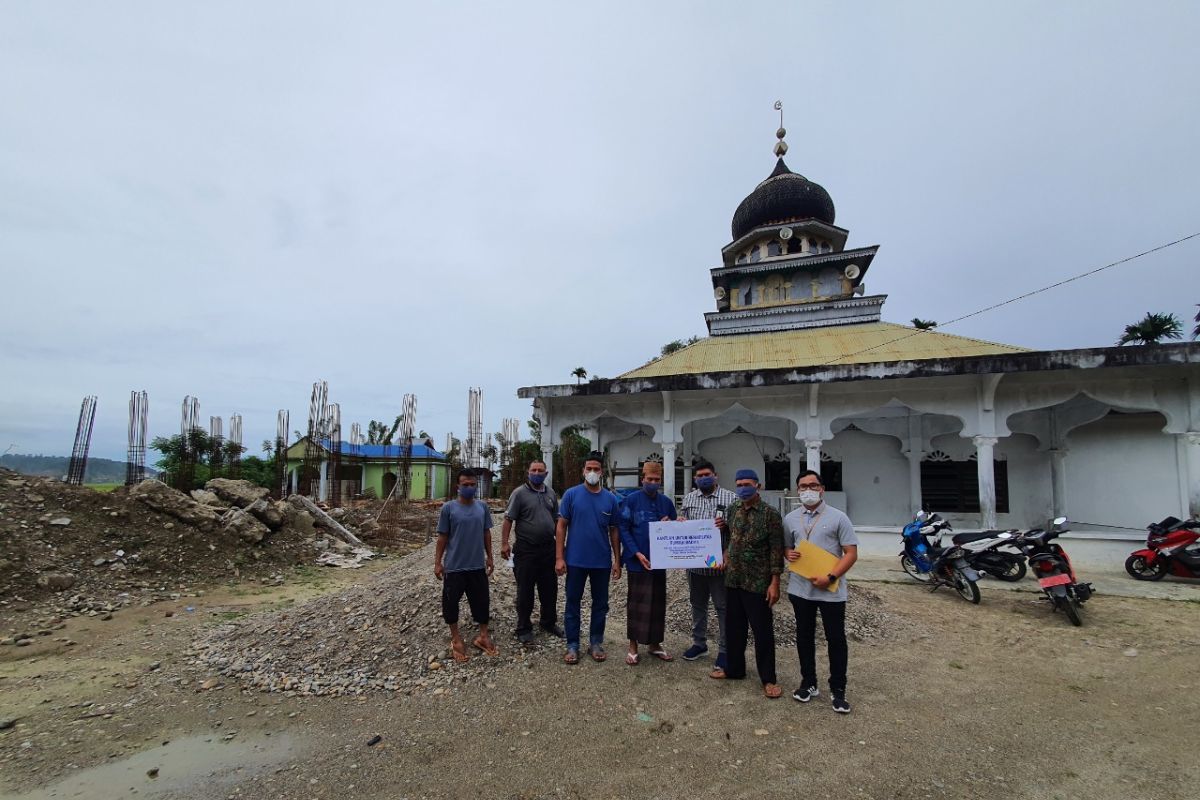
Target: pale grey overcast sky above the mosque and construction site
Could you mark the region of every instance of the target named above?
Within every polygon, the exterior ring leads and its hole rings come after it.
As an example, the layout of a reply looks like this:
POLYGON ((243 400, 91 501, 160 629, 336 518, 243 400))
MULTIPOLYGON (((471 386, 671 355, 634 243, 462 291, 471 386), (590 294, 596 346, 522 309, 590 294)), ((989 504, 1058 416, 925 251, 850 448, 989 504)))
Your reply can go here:
MULTIPOLYGON (((1200 6, 0 0, 0 452, 124 458, 404 392, 438 444, 703 335, 774 166, 880 245, 883 317, 947 320, 1200 231, 1200 6), (410 6, 410 7, 403 7, 410 6), (650 8, 653 6, 653 8, 650 8)), ((1103 347, 1189 321, 1200 239, 947 332, 1103 347)), ((151 453, 150 461, 154 461, 151 453)))

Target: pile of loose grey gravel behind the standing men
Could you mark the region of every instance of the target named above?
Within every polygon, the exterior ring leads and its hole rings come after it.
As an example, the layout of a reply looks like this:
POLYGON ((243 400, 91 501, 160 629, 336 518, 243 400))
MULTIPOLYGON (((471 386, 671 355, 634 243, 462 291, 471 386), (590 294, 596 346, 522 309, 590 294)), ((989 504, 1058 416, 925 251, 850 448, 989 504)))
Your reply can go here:
MULTIPOLYGON (((851 587, 846 626, 856 640, 877 639, 895 626, 895 616, 877 595, 851 587)), ((612 585, 607 640, 617 645, 625 633, 625 581, 612 585)), ((196 642, 191 667, 268 692, 288 696, 356 696, 372 691, 454 691, 455 684, 487 681, 498 669, 534 668, 557 663, 563 642, 539 632, 533 648, 514 638, 515 582, 503 561, 491 583, 492 631, 498 657, 475 651, 464 664, 449 657, 446 626, 442 620, 442 589, 433 576, 433 546, 403 558, 396 566, 364 583, 318 597, 302 606, 266 612, 228 622, 196 642)), ((690 642, 691 610, 683 572, 671 572, 667 584, 667 646, 690 642)), ((584 625, 588 601, 584 600, 584 625)), ((559 595, 562 608, 562 595, 559 595)), ((474 626, 463 602, 463 634, 474 626)), ((535 612, 536 615, 536 612, 535 612)), ((715 621, 710 639, 715 643, 715 621)), ((794 622, 786 600, 776 607, 775 631, 780 646, 794 643, 794 622)), ((469 646, 469 645, 468 645, 469 646)))

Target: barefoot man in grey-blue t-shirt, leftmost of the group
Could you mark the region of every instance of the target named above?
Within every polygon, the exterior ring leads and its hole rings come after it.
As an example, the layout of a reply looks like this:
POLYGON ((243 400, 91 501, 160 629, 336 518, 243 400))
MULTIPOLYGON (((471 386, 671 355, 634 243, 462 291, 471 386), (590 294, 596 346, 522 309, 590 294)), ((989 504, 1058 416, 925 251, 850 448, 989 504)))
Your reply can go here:
POLYGON ((478 479, 469 469, 458 470, 458 497, 442 506, 438 543, 433 551, 433 575, 442 582, 442 616, 450 626, 450 654, 458 663, 468 661, 458 632, 458 606, 463 594, 470 615, 479 625, 474 644, 490 656, 500 651, 487 632, 491 597, 487 578, 492 575, 492 512, 475 499, 478 479))

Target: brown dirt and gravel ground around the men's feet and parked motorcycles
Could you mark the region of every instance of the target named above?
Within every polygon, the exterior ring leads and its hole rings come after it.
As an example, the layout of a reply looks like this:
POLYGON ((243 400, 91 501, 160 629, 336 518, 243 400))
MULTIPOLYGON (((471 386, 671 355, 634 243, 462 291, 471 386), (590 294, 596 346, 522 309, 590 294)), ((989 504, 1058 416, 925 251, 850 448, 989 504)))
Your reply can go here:
MULTIPOLYGON (((977 607, 917 585, 869 584, 852 608, 874 606, 876 627, 851 644, 854 712, 845 717, 826 697, 767 700, 752 675, 709 680, 703 660, 566 667, 557 642, 518 654, 502 616, 511 613, 503 572, 493 594, 502 656, 430 670, 444 645, 427 558, 289 578, 257 594, 164 600, 103 624, 72 618, 64 636, 76 646, 43 637, 6 648, 0 793, 1171 799, 1193 796, 1200 778, 1196 603, 1098 596, 1073 628, 1031 595, 989 593, 977 607), (415 681, 403 688, 268 692, 244 669, 226 675, 208 663, 250 646, 250 631, 274 652, 284 631, 298 630, 283 620, 314 624, 344 609, 343 597, 373 603, 402 591, 416 604, 409 616, 353 619, 341 636, 354 628, 368 634, 355 640, 384 642, 374 646, 385 648, 389 674, 415 681), (194 612, 184 613, 185 602, 194 612), (229 626, 230 616, 242 624, 229 626), (404 619, 415 661, 392 628, 404 619), (76 788, 60 783, 70 780, 76 788)), ((623 594, 622 583, 614 600, 623 594)), ((677 606, 667 636, 674 651, 688 644, 677 606)), ((780 633, 787 610, 779 608, 780 633)), ((610 651, 619 652, 622 628, 611 621, 610 651)), ((275 663, 305 663, 300 652, 283 649, 275 663)), ((778 658, 790 690, 794 650, 781 646, 778 658)), ((338 656, 320 663, 328 672, 338 656)))

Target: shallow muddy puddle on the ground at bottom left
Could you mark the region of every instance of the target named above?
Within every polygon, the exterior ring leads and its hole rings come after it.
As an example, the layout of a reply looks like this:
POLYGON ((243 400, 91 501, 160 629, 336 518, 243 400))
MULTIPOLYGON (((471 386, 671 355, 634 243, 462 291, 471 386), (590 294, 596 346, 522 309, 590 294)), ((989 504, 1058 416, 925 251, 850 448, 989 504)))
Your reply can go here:
POLYGON ((295 758, 296 740, 287 734, 226 741, 223 734, 174 740, 136 756, 78 770, 71 776, 26 794, 0 794, 0 800, 115 800, 155 798, 200 787, 235 783, 266 766, 295 758), (158 770, 157 777, 146 775, 158 770))

